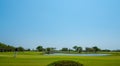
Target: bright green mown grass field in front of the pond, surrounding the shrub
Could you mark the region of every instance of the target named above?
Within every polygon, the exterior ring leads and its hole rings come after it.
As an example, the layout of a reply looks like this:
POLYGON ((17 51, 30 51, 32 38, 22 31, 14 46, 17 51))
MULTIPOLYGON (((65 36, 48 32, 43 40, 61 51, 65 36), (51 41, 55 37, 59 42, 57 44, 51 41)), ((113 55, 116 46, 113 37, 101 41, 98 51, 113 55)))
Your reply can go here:
POLYGON ((120 66, 120 56, 45 56, 40 52, 0 53, 0 66, 46 66, 57 60, 74 60, 84 66, 120 66))

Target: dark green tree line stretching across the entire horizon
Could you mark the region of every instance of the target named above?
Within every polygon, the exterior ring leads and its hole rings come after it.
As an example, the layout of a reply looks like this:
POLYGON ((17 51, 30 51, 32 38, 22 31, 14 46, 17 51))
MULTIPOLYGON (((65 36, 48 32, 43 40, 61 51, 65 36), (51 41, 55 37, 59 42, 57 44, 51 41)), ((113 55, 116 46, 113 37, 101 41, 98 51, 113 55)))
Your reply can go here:
POLYGON ((43 46, 39 45, 36 47, 35 50, 31 50, 31 49, 24 49, 22 46, 19 47, 14 47, 14 46, 10 46, 4 43, 0 42, 0 52, 12 52, 12 51, 39 51, 39 52, 44 52, 44 53, 54 53, 54 52, 76 52, 76 53, 81 53, 81 52, 120 52, 120 50, 109 50, 109 49, 100 49, 97 46, 93 46, 93 47, 86 47, 84 50, 81 46, 73 46, 72 49, 71 48, 67 48, 67 47, 63 47, 60 50, 56 50, 56 48, 53 47, 47 47, 44 48, 43 46))

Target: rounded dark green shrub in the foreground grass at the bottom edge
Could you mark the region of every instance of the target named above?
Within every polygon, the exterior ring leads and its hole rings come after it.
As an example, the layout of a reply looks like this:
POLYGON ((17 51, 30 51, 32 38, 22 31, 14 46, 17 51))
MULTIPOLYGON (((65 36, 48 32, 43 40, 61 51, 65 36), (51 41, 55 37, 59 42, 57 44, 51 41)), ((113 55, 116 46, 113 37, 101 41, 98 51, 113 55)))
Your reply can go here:
POLYGON ((62 60, 62 61, 55 61, 47 66, 83 66, 83 64, 71 60, 62 60))

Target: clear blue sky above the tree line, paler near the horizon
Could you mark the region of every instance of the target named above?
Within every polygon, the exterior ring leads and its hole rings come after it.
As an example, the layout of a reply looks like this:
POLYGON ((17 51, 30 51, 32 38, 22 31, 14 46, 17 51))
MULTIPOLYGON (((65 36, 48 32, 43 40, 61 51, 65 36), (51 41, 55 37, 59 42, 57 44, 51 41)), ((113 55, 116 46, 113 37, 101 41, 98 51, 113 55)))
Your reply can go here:
POLYGON ((0 0, 0 42, 120 49, 120 0, 0 0))

